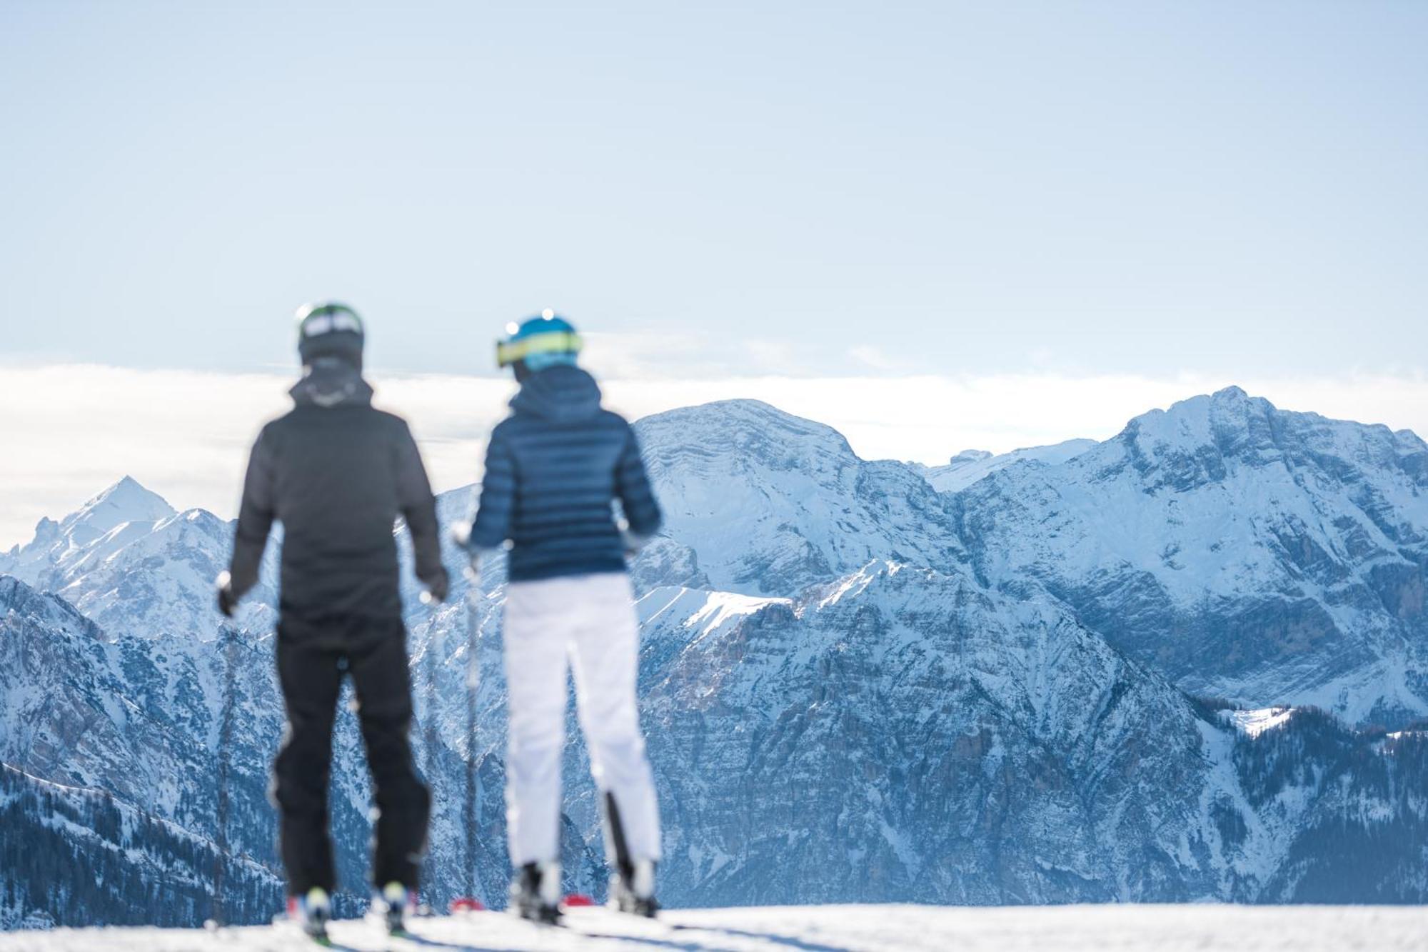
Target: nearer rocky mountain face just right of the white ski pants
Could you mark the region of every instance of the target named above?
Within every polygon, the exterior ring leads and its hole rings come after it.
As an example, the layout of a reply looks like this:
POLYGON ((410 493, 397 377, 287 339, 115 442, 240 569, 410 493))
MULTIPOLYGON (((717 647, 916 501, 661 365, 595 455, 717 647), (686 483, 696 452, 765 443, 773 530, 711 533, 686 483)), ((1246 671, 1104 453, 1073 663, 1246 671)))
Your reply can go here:
POLYGON ((1170 859, 1217 782, 1194 712, 1050 599, 898 563, 795 602, 690 596, 645 596, 671 602, 645 649, 665 809, 708 818, 670 832, 680 895, 1217 893, 1208 855, 1170 859))

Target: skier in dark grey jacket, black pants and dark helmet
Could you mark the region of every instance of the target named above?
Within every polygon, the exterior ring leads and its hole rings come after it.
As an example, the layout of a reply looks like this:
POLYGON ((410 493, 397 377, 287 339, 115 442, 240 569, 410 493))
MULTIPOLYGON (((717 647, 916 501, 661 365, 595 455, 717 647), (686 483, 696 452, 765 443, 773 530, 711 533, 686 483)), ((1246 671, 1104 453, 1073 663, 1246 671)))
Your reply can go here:
POLYGON ((331 732, 343 676, 357 715, 378 809, 373 882, 400 929, 416 895, 430 795, 413 766, 411 686, 398 595, 400 516, 411 530, 417 577, 444 600, 436 499, 406 422, 371 407, 361 377, 364 332, 343 304, 298 310, 303 379, 294 409, 263 427, 248 460, 233 563, 218 579, 230 616, 258 580, 273 522, 283 523, 277 670, 287 733, 273 766, 281 812, 288 912, 326 932, 336 886, 327 832, 331 732))

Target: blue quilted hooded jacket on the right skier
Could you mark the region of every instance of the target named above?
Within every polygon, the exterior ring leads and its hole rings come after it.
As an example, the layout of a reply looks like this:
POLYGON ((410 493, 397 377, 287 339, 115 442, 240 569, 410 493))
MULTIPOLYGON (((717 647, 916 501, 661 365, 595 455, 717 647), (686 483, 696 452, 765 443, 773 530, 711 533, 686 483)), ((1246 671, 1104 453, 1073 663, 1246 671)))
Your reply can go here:
POLYGON ((491 432, 471 546, 510 540, 510 580, 624 572, 620 502, 630 532, 660 529, 660 506, 634 430, 600 407, 600 386, 575 366, 526 380, 491 432))

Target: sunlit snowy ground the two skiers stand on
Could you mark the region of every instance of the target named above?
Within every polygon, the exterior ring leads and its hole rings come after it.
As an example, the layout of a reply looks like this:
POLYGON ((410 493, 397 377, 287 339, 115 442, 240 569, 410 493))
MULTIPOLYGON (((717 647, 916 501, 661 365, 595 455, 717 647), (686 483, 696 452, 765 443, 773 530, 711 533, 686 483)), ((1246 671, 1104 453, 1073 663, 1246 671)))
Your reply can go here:
MULTIPOLYGON (((648 923, 577 909, 570 928, 504 913, 423 919, 414 939, 337 922, 350 952, 1344 952, 1428 948, 1422 906, 798 906, 667 912, 648 923)), ((231 929, 59 929, 0 935, 0 952, 266 952, 314 949, 291 926, 231 929)))

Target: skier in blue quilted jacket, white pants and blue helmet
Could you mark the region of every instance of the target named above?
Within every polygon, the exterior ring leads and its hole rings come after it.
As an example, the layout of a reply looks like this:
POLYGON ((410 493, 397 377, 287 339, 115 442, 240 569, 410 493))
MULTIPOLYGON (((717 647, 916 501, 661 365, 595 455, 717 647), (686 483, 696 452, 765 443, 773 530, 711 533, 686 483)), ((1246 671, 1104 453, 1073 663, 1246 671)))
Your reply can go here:
POLYGON ((560 915, 568 668, 604 809, 611 902, 653 916, 660 816, 635 709, 638 626, 625 557, 658 530, 660 507, 634 430, 600 406, 598 385, 575 363, 575 329, 547 310, 510 332, 497 344, 497 363, 514 370, 521 389, 491 432, 467 545, 473 565, 483 550, 510 549, 513 909, 545 922, 560 915))

